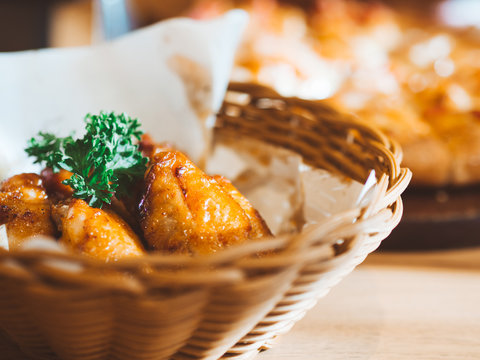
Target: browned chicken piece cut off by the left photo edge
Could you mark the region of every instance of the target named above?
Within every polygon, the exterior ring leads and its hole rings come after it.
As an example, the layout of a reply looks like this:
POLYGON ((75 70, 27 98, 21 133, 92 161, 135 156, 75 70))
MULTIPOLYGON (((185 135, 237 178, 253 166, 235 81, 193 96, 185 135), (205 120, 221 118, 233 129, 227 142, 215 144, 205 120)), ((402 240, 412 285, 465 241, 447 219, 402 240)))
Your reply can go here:
POLYGON ((6 224, 11 249, 32 236, 55 236, 50 215, 50 201, 40 176, 15 175, 1 184, 0 225, 6 224))

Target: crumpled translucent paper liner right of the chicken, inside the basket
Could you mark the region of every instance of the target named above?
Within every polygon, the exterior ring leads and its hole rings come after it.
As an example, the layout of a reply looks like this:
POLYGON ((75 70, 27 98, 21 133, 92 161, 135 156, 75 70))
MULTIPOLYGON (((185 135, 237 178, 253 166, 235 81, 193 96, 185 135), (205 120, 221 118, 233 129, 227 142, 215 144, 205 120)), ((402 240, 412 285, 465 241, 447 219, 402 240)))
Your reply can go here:
POLYGON ((315 169, 287 149, 252 139, 219 143, 207 172, 229 177, 275 235, 300 231, 372 200, 372 171, 365 184, 315 169))

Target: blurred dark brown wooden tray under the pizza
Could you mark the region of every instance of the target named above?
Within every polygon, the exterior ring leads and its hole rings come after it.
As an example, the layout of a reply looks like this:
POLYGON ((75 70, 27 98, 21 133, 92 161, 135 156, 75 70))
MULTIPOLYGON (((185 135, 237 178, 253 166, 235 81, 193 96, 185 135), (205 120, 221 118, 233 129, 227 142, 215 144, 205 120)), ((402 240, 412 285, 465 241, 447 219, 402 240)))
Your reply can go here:
POLYGON ((381 250, 433 250, 480 245, 480 187, 407 189, 404 215, 381 250))

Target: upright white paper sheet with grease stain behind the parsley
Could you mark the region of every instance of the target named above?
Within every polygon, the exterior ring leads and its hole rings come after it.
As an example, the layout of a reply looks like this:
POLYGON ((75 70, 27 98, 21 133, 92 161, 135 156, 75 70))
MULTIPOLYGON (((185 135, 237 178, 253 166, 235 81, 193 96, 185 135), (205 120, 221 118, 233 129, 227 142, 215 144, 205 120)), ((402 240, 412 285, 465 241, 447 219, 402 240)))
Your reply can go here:
POLYGON ((194 161, 228 85, 247 15, 173 19, 98 46, 0 54, 0 179, 37 170, 27 140, 79 135, 87 113, 126 112, 194 161))

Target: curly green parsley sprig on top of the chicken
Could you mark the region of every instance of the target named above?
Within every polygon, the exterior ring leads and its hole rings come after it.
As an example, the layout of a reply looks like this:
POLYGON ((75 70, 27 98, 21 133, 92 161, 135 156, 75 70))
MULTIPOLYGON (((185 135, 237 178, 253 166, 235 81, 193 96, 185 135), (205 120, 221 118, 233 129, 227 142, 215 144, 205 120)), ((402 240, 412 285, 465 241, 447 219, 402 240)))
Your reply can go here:
POLYGON ((44 163, 54 172, 72 172, 63 184, 73 189, 73 197, 102 207, 103 203, 110 204, 114 193, 127 194, 129 186, 145 173, 148 159, 133 143, 143 132, 138 120, 126 114, 88 114, 85 123, 82 139, 40 132, 29 140, 25 151, 35 163, 44 163))

